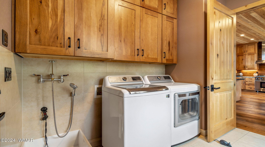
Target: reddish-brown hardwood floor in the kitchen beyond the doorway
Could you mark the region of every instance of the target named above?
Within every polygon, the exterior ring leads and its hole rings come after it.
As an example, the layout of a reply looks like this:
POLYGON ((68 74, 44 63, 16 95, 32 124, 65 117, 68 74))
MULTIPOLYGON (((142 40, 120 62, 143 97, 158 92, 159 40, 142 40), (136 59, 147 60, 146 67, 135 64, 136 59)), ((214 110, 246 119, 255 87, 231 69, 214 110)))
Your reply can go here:
POLYGON ((236 127, 265 135, 265 93, 243 91, 236 102, 236 127))

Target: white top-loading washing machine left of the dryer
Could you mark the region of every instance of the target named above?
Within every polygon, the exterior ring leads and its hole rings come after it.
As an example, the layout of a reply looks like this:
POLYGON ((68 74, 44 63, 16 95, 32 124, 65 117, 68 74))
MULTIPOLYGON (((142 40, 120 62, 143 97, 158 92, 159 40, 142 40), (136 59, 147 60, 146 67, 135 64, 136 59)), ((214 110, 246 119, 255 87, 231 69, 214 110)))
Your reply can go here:
POLYGON ((141 76, 106 76, 102 86, 102 146, 170 147, 171 100, 166 86, 141 76))

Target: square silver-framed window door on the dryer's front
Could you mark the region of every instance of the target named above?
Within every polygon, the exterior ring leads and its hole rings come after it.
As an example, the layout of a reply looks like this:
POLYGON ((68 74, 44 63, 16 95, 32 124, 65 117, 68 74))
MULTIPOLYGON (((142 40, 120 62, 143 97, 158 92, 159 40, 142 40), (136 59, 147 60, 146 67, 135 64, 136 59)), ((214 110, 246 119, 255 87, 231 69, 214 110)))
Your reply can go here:
POLYGON ((200 91, 174 94, 174 127, 199 119, 200 91))

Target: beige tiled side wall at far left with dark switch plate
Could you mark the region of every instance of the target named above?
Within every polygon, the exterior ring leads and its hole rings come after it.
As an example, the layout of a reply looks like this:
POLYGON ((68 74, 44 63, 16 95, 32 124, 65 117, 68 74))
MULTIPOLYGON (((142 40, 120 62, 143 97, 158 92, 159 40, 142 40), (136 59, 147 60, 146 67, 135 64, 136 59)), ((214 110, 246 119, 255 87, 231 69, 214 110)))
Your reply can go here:
POLYGON ((6 112, 0 122, 0 137, 15 138, 15 142, 1 142, 1 147, 20 146, 22 138, 22 58, 0 46, 0 113, 6 112), (12 68, 12 80, 5 82, 4 68, 12 68))

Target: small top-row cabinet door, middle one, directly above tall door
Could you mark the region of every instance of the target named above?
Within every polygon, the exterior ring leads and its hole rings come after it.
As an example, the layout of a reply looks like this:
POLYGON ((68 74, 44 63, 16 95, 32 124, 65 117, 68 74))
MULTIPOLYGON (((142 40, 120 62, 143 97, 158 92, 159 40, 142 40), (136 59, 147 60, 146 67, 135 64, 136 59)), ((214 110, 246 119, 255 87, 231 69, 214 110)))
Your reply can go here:
POLYGON ((139 0, 142 7, 162 13, 162 0, 139 0))

